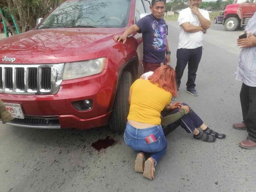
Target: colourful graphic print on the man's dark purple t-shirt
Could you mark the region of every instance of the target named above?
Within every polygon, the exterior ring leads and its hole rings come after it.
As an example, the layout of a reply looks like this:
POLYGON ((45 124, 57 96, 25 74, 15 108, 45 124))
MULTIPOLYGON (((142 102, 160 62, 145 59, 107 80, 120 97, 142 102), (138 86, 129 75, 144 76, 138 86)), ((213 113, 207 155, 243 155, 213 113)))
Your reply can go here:
POLYGON ((167 25, 159 20, 155 20, 152 23, 153 29, 153 42, 152 47, 157 51, 165 51, 166 50, 166 34, 167 34, 167 25))

